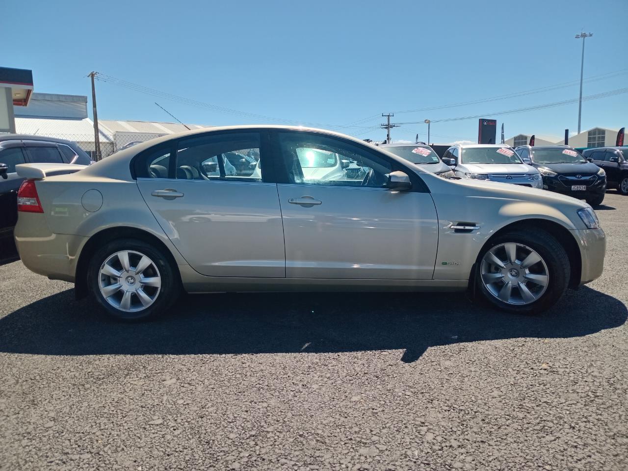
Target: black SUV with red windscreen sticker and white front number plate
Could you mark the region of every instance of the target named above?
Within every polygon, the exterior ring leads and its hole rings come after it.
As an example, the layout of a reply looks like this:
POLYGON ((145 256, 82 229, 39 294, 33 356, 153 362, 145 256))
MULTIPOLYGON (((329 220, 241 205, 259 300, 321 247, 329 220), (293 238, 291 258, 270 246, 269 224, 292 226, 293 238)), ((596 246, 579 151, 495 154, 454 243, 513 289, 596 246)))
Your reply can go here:
POLYGON ((590 163, 576 149, 569 146, 519 146, 515 151, 525 163, 539 171, 544 190, 587 200, 592 206, 604 201, 604 169, 590 163))

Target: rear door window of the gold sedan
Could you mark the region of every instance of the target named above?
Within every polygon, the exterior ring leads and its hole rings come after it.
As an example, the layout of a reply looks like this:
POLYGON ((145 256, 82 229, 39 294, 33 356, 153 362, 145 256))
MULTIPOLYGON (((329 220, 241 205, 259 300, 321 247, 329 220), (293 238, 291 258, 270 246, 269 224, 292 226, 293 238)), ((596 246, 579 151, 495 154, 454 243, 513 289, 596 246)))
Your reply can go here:
POLYGON ((176 178, 261 181, 259 148, 259 133, 208 134, 181 139, 176 151, 176 178))

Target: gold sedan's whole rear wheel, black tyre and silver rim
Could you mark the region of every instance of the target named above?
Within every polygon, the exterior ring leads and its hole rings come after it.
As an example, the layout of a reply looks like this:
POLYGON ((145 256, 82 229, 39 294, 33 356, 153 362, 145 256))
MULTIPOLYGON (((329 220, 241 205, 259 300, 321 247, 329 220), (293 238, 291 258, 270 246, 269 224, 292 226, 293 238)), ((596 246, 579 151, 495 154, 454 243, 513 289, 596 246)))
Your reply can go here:
POLYGON ((117 239, 92 256, 87 283, 109 315, 122 320, 156 317, 181 292, 178 271, 160 250, 138 239, 117 239))

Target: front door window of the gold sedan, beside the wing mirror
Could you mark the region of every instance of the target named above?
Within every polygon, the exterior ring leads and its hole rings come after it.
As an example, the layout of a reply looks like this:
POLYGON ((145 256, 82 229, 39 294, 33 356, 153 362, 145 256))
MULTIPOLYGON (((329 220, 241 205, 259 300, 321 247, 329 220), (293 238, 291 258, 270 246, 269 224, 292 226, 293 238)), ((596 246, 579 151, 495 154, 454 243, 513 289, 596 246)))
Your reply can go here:
POLYGON ((381 188, 391 163, 352 143, 309 133, 279 133, 288 181, 302 185, 381 188))

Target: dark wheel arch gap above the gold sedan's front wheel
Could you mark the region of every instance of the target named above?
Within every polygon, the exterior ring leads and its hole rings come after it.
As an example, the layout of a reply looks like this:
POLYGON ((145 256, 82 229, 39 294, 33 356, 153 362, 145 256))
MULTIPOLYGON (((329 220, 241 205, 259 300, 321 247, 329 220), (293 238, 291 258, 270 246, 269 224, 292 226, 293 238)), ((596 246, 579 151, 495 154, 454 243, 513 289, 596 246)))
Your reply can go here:
MULTIPOLYGON (((578 247, 578 242, 569 229, 567 229, 564 225, 559 222, 549 220, 549 219, 541 219, 541 218, 528 218, 521 219, 515 222, 511 222, 502 226, 500 229, 495 230, 495 232, 489 237, 489 239, 484 243, 482 249, 478 252, 478 259, 482 254, 484 254, 487 247, 490 246, 490 243, 495 239, 495 237, 499 237, 502 234, 507 234, 514 230, 526 230, 526 229, 541 229, 545 232, 548 232, 551 236, 553 236, 556 241, 558 241, 561 246, 567 252, 567 256, 569 257, 570 262, 570 277, 569 277, 569 288, 577 288, 580 284, 580 278, 582 274, 582 254, 580 254, 580 247, 578 247)), ((469 287, 472 288, 475 279, 475 269, 477 268, 477 260, 471 268, 469 273, 469 287)))

